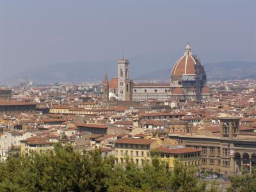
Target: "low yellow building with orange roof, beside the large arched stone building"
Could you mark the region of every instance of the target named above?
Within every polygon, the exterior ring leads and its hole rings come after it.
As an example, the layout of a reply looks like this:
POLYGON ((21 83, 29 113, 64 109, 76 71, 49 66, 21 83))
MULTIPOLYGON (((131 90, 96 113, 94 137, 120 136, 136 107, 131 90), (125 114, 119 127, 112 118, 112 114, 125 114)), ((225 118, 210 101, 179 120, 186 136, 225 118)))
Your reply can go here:
POLYGON ((159 154, 161 159, 168 161, 169 167, 173 168, 174 159, 179 159, 185 164, 185 166, 195 165, 196 168, 200 168, 201 152, 197 148, 167 148, 157 147, 155 152, 159 154))

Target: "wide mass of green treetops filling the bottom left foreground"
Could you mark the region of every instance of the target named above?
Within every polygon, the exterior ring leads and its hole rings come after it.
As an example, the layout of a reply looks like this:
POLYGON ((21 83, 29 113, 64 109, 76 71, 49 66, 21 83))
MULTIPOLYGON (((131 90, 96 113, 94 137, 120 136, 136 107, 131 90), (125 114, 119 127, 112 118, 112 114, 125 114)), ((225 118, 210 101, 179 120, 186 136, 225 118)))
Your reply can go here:
POLYGON ((175 161, 171 172, 157 158, 143 168, 120 166, 99 150, 83 155, 72 147, 29 156, 10 157, 0 163, 0 191, 205 191, 193 167, 175 161))

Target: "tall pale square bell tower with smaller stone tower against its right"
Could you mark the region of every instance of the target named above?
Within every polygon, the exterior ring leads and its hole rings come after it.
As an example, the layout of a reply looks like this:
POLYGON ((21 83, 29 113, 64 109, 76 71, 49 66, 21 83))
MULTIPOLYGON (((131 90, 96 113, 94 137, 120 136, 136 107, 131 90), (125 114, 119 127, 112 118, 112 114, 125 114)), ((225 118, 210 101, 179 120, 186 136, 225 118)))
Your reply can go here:
POLYGON ((118 99, 132 100, 132 80, 129 79, 129 60, 117 60, 118 66, 118 99))

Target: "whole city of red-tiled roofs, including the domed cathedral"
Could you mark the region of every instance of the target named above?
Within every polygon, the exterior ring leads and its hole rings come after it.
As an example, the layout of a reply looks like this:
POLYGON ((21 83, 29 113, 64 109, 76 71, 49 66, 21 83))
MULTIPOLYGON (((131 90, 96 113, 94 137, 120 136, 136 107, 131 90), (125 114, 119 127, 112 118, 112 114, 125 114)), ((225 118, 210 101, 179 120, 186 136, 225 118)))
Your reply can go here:
POLYGON ((255 79, 207 82, 189 43, 170 83, 132 82, 125 58, 117 61, 117 73, 109 80, 102 74, 102 83, 38 86, 29 80, 2 87, 1 161, 49 153, 60 143, 79 154, 99 150, 122 166, 143 168, 157 156, 173 170, 179 159, 223 190, 233 175, 252 174, 255 79))

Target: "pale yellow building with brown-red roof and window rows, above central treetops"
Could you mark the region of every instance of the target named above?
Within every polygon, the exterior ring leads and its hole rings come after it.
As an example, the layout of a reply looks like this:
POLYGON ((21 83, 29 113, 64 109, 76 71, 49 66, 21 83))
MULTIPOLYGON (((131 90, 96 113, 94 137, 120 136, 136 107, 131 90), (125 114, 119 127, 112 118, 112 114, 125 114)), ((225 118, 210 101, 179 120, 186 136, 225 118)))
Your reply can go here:
POLYGON ((115 141, 116 163, 124 164, 129 157, 138 166, 150 161, 150 150, 157 147, 157 140, 122 138, 115 141))

